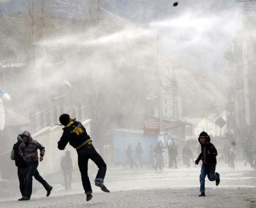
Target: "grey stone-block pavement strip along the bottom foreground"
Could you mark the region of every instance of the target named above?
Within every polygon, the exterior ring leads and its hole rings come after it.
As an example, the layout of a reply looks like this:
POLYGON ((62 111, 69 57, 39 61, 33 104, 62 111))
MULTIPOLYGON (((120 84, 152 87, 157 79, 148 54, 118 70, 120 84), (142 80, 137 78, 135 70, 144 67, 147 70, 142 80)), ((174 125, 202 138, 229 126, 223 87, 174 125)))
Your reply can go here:
POLYGON ((0 202, 3 208, 36 207, 256 207, 255 189, 253 188, 208 188, 206 197, 198 197, 198 188, 168 188, 116 191, 111 193, 93 193, 93 198, 86 202, 82 193, 31 198, 19 202, 8 200, 0 202))

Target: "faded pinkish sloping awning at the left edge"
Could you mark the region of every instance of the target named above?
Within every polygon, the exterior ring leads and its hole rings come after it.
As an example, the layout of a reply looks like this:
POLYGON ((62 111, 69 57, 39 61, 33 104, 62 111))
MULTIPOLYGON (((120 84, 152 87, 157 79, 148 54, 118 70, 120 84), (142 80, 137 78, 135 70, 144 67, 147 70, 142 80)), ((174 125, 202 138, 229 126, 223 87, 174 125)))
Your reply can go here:
POLYGON ((4 126, 22 126, 30 123, 29 119, 20 115, 10 108, 4 107, 5 125, 4 126))

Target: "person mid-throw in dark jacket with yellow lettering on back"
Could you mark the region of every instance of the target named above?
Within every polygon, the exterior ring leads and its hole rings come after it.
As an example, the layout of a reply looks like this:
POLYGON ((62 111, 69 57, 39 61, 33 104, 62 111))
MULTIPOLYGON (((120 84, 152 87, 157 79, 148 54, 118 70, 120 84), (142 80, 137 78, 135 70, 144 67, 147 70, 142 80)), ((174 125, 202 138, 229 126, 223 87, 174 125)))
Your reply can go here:
POLYGON ((99 186, 104 192, 110 192, 103 184, 107 171, 107 165, 92 145, 92 139, 87 134, 83 124, 76 119, 71 119, 70 115, 62 114, 60 123, 65 126, 63 134, 58 141, 58 149, 64 150, 69 143, 77 151, 78 167, 81 172, 86 201, 92 199, 92 186, 88 177, 88 160, 91 159, 99 168, 95 178, 95 186, 99 186))

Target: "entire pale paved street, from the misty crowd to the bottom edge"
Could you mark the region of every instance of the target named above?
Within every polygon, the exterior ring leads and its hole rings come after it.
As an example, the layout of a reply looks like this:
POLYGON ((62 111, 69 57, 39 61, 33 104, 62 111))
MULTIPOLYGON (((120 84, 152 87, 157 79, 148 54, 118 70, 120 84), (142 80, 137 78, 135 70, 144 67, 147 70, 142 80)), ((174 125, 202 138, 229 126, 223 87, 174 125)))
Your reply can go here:
MULTIPOLYGON (((96 168, 90 169, 90 179, 96 168)), ((221 174, 220 186, 206 179, 206 197, 199 195, 200 167, 178 169, 164 168, 163 171, 145 168, 109 167, 105 184, 111 193, 104 193, 92 186, 93 198, 86 202, 79 172, 74 172, 72 190, 65 191, 62 175, 56 174, 45 179, 54 186, 50 197, 37 181, 34 181, 31 200, 19 202, 19 188, 15 182, 1 187, 0 207, 256 207, 255 170, 236 162, 236 169, 220 162, 217 170, 221 174), (6 194, 6 198, 4 198, 6 194)), ((3 183, 2 183, 3 184, 3 183)))

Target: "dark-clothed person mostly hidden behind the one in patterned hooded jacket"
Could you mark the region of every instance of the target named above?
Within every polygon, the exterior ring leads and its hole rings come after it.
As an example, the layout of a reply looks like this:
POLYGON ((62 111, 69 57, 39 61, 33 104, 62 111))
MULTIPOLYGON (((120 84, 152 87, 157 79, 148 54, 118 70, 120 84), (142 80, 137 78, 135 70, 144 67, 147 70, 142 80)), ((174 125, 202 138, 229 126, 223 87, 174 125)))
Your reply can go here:
POLYGON ((24 196, 24 190, 25 190, 25 176, 28 164, 23 160, 23 158, 19 154, 19 146, 22 142, 22 137, 20 135, 17 136, 17 142, 13 145, 11 159, 15 160, 15 165, 18 169, 18 178, 19 178, 19 187, 20 187, 20 193, 21 196, 24 196))

